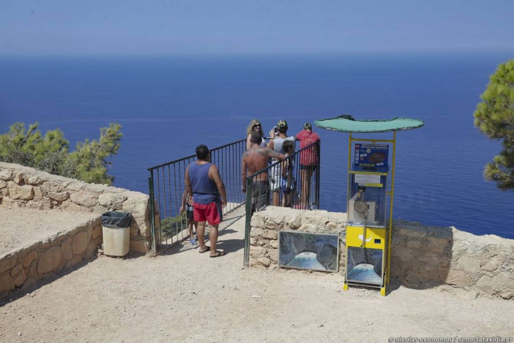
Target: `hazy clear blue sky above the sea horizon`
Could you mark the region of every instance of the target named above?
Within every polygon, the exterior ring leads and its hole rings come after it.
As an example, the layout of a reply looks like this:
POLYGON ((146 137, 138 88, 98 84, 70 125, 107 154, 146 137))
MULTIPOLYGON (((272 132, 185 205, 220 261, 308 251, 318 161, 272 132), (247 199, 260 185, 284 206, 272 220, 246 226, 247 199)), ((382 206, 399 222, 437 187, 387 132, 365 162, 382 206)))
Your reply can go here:
POLYGON ((0 55, 514 51, 512 0, 0 0, 0 55))

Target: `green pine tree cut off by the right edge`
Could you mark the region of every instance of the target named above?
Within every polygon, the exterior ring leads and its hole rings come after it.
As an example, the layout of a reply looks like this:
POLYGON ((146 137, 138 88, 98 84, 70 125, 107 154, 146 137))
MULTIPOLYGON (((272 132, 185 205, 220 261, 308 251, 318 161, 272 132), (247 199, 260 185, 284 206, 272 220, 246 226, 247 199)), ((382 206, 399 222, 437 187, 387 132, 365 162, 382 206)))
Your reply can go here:
POLYGON ((514 190, 514 60, 500 64, 476 106, 475 126, 503 150, 486 165, 484 177, 502 190, 514 190))

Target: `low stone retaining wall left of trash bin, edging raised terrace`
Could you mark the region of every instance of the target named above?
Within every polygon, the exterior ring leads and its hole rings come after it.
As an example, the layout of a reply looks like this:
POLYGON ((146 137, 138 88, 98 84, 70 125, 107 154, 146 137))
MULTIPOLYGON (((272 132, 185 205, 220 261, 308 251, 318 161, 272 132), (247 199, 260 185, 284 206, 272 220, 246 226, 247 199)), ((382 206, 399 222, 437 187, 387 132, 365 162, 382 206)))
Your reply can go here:
POLYGON ((39 279, 92 258, 101 243, 102 223, 97 218, 0 257, 0 299, 15 287, 27 288, 39 279))

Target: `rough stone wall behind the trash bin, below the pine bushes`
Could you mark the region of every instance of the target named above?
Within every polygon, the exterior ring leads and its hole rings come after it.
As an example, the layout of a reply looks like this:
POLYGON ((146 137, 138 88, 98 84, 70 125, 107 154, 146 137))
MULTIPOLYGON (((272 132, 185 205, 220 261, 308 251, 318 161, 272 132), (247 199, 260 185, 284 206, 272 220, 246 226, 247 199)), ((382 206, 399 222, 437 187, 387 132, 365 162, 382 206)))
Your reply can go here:
POLYGON ((131 212, 131 251, 150 250, 148 195, 126 189, 88 184, 16 164, 0 163, 0 207, 64 211, 131 212))

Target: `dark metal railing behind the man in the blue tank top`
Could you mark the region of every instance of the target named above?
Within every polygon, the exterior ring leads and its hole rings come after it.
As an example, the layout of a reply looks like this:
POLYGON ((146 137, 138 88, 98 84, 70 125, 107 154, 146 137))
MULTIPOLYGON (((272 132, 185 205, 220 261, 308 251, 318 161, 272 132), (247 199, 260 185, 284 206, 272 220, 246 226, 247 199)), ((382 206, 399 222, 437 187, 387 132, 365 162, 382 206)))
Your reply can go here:
MULTIPOLYGON (((246 139, 237 140, 210 150, 211 163, 219 170, 227 192, 224 214, 245 203, 241 192, 241 156, 246 150, 246 139)), ((187 167, 196 160, 190 155, 148 168, 154 253, 167 249, 187 238, 187 219, 180 213, 182 194, 185 191, 187 167)))

